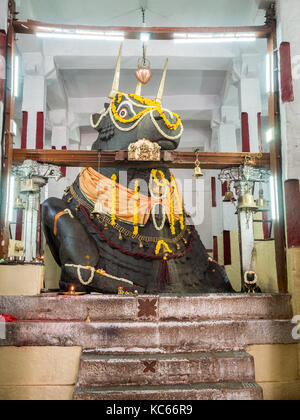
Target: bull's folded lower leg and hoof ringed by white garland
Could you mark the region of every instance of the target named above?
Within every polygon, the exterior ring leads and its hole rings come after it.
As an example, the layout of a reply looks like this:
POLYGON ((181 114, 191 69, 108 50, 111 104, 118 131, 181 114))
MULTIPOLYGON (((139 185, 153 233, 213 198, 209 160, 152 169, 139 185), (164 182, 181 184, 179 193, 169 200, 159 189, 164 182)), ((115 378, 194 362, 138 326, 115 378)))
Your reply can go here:
POLYGON ((62 291, 69 291, 75 286, 77 292, 117 294, 119 287, 134 293, 144 293, 145 289, 133 284, 129 280, 120 279, 106 273, 100 274, 94 268, 77 265, 65 265, 62 267, 61 280, 59 282, 62 291))

